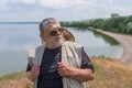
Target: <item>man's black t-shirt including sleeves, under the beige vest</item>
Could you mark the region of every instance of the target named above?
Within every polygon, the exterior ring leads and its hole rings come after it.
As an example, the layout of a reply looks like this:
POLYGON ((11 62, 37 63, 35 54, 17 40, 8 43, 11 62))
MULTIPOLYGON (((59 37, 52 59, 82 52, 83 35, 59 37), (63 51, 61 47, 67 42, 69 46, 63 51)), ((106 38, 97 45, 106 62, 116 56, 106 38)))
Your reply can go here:
MULTIPOLYGON (((57 67, 58 62, 61 62, 61 47, 56 50, 44 50, 37 88, 63 88, 62 77, 58 74, 57 67)), ((82 52, 81 68, 94 70, 94 66, 85 52, 82 52)), ((28 70, 31 70, 30 65, 28 65, 28 70)))

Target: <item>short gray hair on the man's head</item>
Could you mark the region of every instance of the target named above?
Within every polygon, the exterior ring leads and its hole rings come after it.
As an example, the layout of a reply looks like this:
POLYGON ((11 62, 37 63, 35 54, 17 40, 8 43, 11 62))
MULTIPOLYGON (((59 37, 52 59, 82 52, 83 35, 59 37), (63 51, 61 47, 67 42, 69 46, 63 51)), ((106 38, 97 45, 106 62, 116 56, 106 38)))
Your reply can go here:
POLYGON ((54 18, 46 18, 44 19, 41 23, 40 23, 40 32, 43 33, 45 30, 45 25, 48 23, 56 23, 58 22, 56 19, 54 18))

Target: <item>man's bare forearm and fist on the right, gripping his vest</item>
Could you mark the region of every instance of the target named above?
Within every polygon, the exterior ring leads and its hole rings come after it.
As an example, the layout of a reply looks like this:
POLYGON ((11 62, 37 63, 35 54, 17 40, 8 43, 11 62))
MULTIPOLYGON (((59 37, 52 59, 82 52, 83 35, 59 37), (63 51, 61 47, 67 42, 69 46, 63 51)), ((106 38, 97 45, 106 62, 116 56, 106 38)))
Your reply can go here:
POLYGON ((64 63, 58 63, 58 72, 61 76, 70 77, 78 81, 91 80, 95 77, 95 74, 91 69, 74 68, 64 63))

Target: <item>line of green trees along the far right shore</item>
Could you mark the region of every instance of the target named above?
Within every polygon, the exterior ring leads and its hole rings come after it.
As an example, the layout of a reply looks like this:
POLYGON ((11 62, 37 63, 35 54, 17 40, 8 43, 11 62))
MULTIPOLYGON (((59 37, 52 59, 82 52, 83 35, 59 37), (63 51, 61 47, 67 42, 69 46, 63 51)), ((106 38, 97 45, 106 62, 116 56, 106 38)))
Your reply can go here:
POLYGON ((73 28, 94 28, 105 31, 132 34, 132 15, 120 16, 118 13, 112 13, 109 19, 62 22, 62 25, 73 28))

